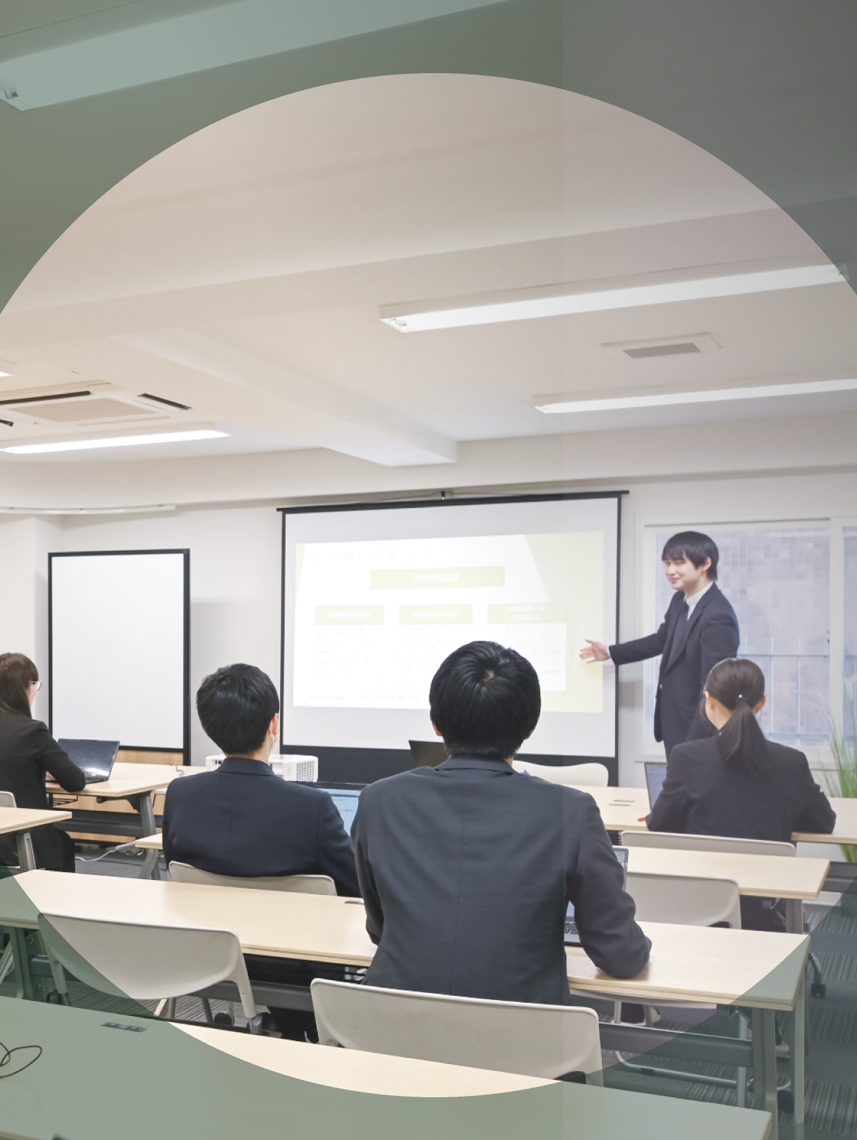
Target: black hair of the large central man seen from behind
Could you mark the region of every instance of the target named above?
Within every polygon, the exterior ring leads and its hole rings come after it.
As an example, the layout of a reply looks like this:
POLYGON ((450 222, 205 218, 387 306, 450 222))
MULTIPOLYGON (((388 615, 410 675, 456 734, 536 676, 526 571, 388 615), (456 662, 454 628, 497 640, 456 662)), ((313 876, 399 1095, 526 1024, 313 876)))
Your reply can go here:
POLYGON ((434 674, 428 703, 450 755, 507 760, 538 724, 541 690, 515 650, 471 642, 434 674))

